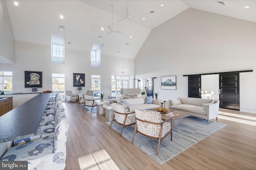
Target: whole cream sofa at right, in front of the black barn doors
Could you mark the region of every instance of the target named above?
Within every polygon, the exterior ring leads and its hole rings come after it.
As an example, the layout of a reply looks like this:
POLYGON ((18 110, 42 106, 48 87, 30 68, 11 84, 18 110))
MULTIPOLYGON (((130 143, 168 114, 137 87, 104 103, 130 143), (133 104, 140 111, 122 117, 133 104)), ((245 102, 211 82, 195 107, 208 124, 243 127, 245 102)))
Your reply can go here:
POLYGON ((207 123, 215 117, 216 120, 218 119, 219 104, 219 101, 201 98, 179 97, 169 100, 170 109, 184 111, 194 117, 206 119, 207 123))

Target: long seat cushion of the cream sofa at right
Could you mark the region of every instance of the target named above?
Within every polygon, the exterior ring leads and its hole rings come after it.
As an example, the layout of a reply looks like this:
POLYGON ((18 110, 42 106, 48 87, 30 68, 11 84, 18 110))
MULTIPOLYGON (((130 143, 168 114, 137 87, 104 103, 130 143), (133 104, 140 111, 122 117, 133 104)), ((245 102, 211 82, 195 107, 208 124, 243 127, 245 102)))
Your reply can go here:
POLYGON ((206 115, 206 111, 203 109, 202 106, 195 106, 195 105, 189 105, 189 104, 178 104, 170 106, 171 109, 178 109, 183 111, 188 111, 200 115, 206 115))

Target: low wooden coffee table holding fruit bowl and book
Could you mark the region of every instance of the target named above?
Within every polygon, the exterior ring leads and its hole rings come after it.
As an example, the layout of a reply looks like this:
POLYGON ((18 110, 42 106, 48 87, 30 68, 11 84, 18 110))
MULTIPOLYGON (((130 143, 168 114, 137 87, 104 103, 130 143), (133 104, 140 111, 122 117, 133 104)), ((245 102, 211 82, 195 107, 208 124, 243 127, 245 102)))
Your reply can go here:
MULTIPOLYGON (((157 111, 157 109, 150 109, 152 111, 157 111)), ((167 113, 178 113, 179 115, 172 116, 172 127, 180 125, 181 118, 191 116, 189 113, 184 111, 174 110, 174 109, 167 109, 166 113, 161 113, 161 117, 163 120, 170 119, 170 116, 166 116, 167 113)))

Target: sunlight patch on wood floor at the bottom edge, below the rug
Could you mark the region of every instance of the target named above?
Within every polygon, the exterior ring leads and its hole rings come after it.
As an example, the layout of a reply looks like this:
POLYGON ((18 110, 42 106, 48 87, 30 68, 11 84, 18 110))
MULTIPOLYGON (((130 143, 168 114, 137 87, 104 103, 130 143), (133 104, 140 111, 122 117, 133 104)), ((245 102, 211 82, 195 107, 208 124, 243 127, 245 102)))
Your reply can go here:
POLYGON ((80 170, 119 170, 105 149, 78 158, 80 170))

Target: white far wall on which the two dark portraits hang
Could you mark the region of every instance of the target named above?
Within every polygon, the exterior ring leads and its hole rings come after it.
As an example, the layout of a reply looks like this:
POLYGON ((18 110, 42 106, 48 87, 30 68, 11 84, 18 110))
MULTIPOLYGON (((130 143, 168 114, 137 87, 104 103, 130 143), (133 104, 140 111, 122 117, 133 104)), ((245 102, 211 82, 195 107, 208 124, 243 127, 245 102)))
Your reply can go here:
MULTIPOLYGON (((85 87, 81 93, 91 90, 91 75, 101 76, 101 92, 111 96, 111 74, 134 76, 134 59, 101 55, 101 66, 92 67, 90 52, 65 49, 65 64, 51 63, 51 47, 16 41, 16 63, 1 64, 0 70, 13 71, 13 92, 31 93, 31 88, 25 88, 24 71, 42 71, 42 88, 38 92, 52 89, 52 73, 65 74, 65 88, 78 94, 77 87, 73 87, 73 73, 85 73, 85 87)), ((24 103, 13 95, 14 107, 24 103), (17 101, 18 100, 18 101, 17 101)), ((2 97, 2 96, 1 96, 2 97)))

